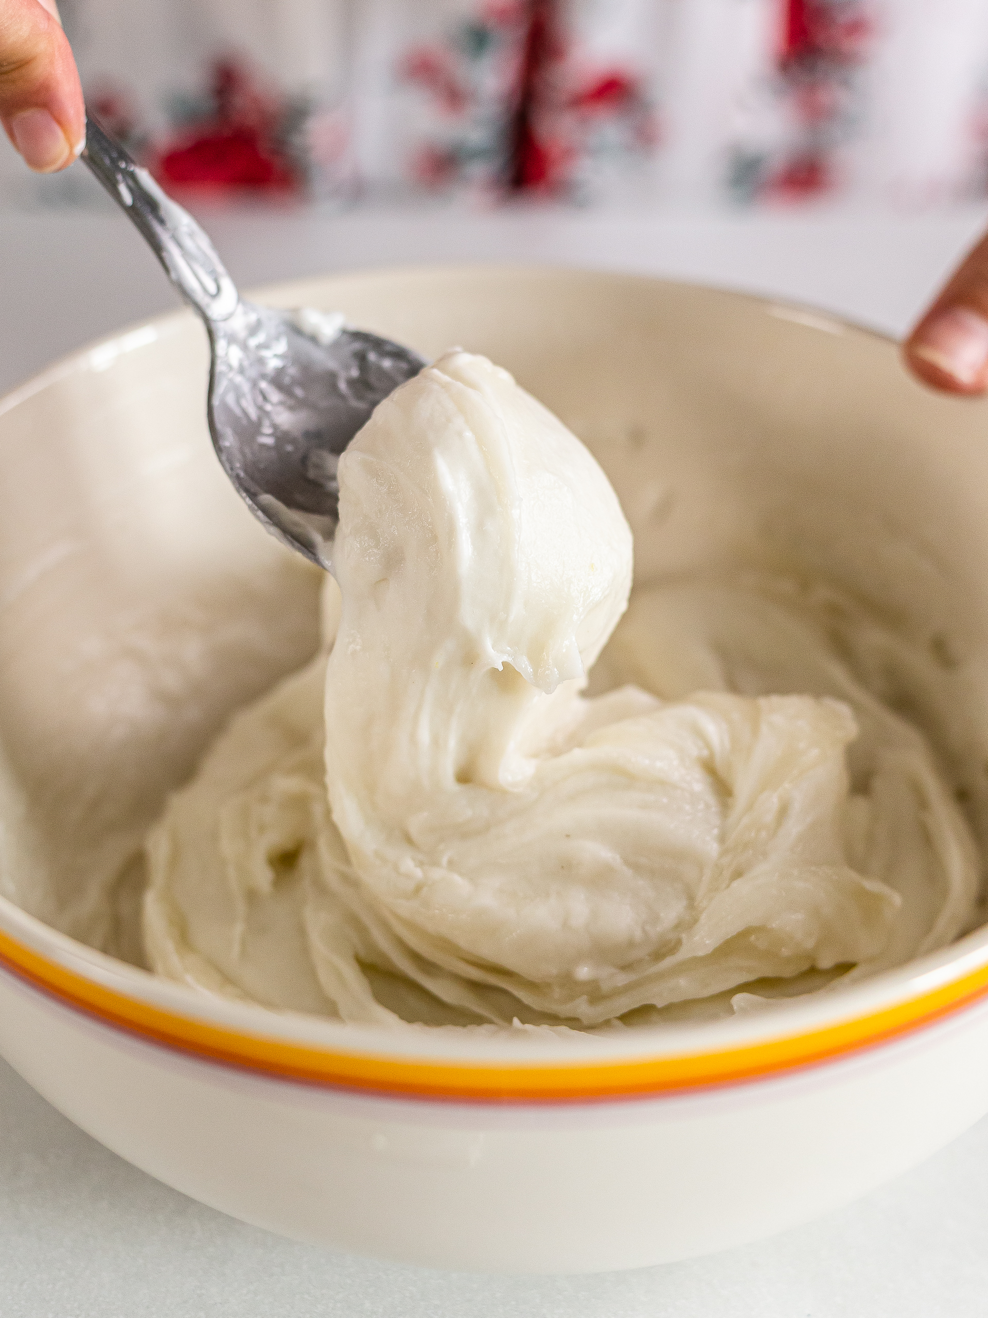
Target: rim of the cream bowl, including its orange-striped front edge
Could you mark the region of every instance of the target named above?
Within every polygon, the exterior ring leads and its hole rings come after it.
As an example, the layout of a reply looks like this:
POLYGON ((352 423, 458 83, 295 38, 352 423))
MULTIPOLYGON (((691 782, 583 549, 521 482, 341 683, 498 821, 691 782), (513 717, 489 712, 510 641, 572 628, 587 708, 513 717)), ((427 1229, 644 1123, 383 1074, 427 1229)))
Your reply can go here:
MULTIPOLYGON (((398 266, 312 275, 252 290, 281 301, 368 279, 556 277, 674 287, 746 302, 752 311, 829 333, 894 345, 892 336, 811 306, 710 285, 561 265, 398 266)), ((67 355, 0 398, 0 418, 80 370, 195 322, 153 316, 67 355)), ((794 998, 727 1020, 599 1035, 526 1028, 354 1025, 204 994, 97 952, 0 896, 0 969, 86 1016, 169 1050, 278 1079, 423 1101, 585 1103, 696 1093, 772 1079, 916 1033, 988 996, 988 927, 833 994, 794 998)))

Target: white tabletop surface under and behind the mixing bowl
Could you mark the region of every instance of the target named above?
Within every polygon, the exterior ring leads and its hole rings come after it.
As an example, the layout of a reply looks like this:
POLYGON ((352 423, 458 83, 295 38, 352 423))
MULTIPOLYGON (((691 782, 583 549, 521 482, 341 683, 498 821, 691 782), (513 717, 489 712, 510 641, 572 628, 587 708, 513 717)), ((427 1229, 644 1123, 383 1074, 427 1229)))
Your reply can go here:
MULTIPOLYGON (((256 214, 209 225, 242 285, 395 262, 551 261, 771 293, 898 333, 984 221, 974 210, 539 211, 256 214)), ((173 304, 123 217, 0 211, 0 390, 173 304)), ((988 1313, 987 1239, 988 1120, 867 1199, 713 1259, 595 1277, 397 1267, 202 1207, 108 1153, 0 1062, 3 1318, 974 1318, 988 1313)))

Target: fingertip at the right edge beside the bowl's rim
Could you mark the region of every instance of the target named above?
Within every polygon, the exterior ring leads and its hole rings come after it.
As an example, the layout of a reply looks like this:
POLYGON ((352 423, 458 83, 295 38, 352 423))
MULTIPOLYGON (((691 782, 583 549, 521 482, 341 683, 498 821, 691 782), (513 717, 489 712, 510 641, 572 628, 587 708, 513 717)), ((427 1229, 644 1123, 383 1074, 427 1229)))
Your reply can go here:
POLYGON ((934 389, 988 390, 988 235, 964 257, 902 347, 906 365, 934 389))

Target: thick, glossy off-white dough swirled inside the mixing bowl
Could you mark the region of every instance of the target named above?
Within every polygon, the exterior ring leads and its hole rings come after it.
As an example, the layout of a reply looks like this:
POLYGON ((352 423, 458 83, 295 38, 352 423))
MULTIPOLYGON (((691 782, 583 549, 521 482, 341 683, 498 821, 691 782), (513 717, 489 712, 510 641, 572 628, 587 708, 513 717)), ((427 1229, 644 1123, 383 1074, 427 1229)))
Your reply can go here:
POLYGON ((631 532, 506 372, 452 352, 381 403, 340 511, 329 652, 149 838, 161 974, 349 1021, 588 1029, 819 988, 971 921, 934 754, 811 592, 638 593, 588 699, 631 532))

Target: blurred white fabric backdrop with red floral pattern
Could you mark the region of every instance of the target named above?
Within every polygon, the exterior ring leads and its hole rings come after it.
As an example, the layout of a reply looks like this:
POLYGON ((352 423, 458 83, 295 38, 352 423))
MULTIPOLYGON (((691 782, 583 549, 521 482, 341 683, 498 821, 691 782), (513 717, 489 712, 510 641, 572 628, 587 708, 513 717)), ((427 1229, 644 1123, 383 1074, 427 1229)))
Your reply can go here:
MULTIPOLYGON (((224 204, 916 210, 988 190, 985 0, 61 11, 94 111, 169 188, 224 204)), ((8 183, 95 204, 80 171, 8 183)))

